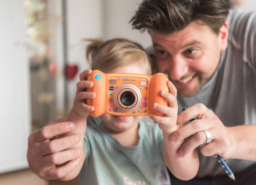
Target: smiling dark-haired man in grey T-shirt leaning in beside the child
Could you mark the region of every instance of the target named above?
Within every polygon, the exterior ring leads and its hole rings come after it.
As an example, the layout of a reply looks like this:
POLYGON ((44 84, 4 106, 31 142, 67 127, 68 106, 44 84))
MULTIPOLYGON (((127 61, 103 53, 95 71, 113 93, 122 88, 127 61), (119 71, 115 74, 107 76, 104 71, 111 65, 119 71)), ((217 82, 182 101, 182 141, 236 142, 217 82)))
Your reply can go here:
POLYGON ((230 11, 228 0, 144 0, 133 28, 149 31, 160 71, 179 92, 180 127, 170 142, 186 138, 180 157, 197 148, 195 179, 174 184, 236 184, 256 181, 256 12, 230 11))

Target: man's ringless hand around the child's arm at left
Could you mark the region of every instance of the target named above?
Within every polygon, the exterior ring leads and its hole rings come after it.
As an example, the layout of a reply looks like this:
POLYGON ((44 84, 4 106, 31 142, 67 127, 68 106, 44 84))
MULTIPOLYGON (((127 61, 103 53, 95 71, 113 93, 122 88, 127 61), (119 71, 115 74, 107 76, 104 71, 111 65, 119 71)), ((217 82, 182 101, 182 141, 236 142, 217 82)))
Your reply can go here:
POLYGON ((84 151, 82 146, 72 146, 81 141, 82 135, 61 136, 70 133, 74 127, 73 122, 58 119, 29 135, 28 165, 39 177, 45 180, 63 178, 77 168, 84 151))

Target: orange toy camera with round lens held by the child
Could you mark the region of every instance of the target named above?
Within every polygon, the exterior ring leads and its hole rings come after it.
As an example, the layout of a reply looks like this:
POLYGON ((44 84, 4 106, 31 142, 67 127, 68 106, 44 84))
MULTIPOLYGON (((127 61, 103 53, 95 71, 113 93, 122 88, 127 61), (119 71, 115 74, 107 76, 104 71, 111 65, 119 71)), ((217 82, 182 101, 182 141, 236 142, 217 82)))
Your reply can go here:
POLYGON ((88 105, 94 106, 94 111, 89 113, 93 117, 105 113, 118 116, 163 116, 153 109, 153 103, 167 106, 167 101, 160 95, 160 90, 168 92, 165 74, 104 74, 95 70, 88 80, 93 82, 93 87, 87 91, 96 92, 96 98, 87 100, 88 105))

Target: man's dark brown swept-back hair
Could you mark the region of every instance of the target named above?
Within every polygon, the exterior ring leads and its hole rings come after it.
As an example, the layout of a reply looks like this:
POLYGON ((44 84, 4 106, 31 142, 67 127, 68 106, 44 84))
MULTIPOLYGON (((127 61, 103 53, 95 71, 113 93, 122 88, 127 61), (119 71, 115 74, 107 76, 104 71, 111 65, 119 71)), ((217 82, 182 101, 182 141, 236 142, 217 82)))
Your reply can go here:
POLYGON ((142 31, 172 34, 194 20, 201 20, 219 34, 229 9, 228 0, 144 0, 130 23, 142 31))

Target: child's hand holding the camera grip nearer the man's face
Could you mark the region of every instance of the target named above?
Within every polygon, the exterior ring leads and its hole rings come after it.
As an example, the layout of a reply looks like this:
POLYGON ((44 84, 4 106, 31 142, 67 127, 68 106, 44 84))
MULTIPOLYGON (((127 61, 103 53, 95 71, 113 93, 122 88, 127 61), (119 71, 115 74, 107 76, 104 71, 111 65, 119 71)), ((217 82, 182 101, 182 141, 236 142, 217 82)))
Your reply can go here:
POLYGON ((161 130, 163 130, 163 134, 171 134, 174 130, 177 129, 177 115, 178 115, 178 104, 177 104, 177 89, 170 81, 167 82, 168 89, 170 91, 166 92, 162 90, 160 95, 163 98, 166 98, 168 101, 168 106, 162 106, 158 103, 154 103, 154 109, 160 111, 165 114, 163 117, 159 117, 155 114, 151 114, 150 117, 158 122, 158 125, 161 130))

